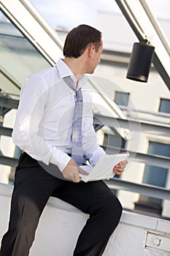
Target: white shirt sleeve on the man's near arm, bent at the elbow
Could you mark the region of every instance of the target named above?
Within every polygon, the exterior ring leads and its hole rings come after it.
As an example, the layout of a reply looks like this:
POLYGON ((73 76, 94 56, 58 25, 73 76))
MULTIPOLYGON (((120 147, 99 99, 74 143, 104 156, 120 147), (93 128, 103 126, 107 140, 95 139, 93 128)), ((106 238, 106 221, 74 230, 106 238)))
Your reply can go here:
POLYGON ((48 87, 39 76, 28 78, 20 91, 20 103, 12 131, 14 143, 31 157, 53 163, 62 171, 71 159, 63 151, 51 146, 37 135, 47 102, 48 87))

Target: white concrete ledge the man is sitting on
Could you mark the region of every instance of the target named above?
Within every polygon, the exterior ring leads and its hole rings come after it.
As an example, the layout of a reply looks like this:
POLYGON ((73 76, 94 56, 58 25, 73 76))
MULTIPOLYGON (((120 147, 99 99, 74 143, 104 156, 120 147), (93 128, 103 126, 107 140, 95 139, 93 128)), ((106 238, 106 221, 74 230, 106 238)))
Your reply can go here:
MULTIPOLYGON (((12 186, 0 184, 0 239, 7 230, 12 186)), ((88 214, 51 197, 36 230, 30 256, 71 256, 88 214)), ((170 255, 170 222, 123 211, 104 256, 170 255), (149 238, 155 240, 148 240, 149 238), (161 241, 156 244, 155 241, 161 241)))

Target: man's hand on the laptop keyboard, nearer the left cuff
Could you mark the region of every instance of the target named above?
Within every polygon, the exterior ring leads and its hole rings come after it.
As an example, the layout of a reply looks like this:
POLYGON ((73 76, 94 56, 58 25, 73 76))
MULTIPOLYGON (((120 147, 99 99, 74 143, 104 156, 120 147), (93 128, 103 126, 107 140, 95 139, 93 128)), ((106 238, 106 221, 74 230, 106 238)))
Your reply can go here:
POLYGON ((66 179, 69 179, 75 183, 80 182, 80 176, 79 173, 88 175, 88 173, 85 170, 82 170, 77 163, 74 161, 74 159, 70 159, 69 163, 66 165, 66 167, 62 171, 63 177, 66 179))

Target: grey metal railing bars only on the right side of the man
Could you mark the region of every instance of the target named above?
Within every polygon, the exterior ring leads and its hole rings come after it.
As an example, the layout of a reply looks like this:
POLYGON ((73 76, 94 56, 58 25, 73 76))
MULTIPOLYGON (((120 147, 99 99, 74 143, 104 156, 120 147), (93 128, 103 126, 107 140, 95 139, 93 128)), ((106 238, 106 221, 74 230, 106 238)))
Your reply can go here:
MULTIPOLYGON (((139 123, 138 121, 121 119, 121 118, 111 118, 109 116, 94 115, 94 124, 101 125, 104 124, 108 127, 121 127, 125 129, 133 129, 136 132, 149 132, 150 134, 156 132, 157 135, 163 135, 170 137, 169 126, 161 124, 150 124, 150 123, 139 123)), ((125 148, 116 148, 113 146, 104 146, 107 154, 117 154, 118 152, 125 151, 125 148)), ((154 165, 158 167, 170 168, 170 157, 163 157, 152 154, 142 154, 134 151, 129 151, 131 158, 134 162, 140 162, 144 164, 154 165)), ((112 178, 106 181, 107 185, 111 189, 122 189, 129 192, 136 192, 141 195, 147 195, 149 197, 155 197, 162 200, 170 200, 170 189, 163 187, 157 187, 150 184, 136 184, 134 182, 123 181, 120 178, 112 178)))

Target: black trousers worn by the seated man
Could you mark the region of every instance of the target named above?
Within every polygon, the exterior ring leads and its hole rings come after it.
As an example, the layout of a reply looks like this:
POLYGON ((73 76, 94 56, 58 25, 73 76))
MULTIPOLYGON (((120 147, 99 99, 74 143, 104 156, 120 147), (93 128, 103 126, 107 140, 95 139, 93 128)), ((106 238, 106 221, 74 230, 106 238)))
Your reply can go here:
MULTIPOLYGON (((103 181, 74 183, 56 178, 23 153, 15 172, 9 228, 1 241, 0 256, 28 256, 39 217, 50 196, 90 214, 77 240, 74 256, 102 255, 122 214, 117 197, 103 181)), ((55 255, 58 255, 57 241, 55 255)))

